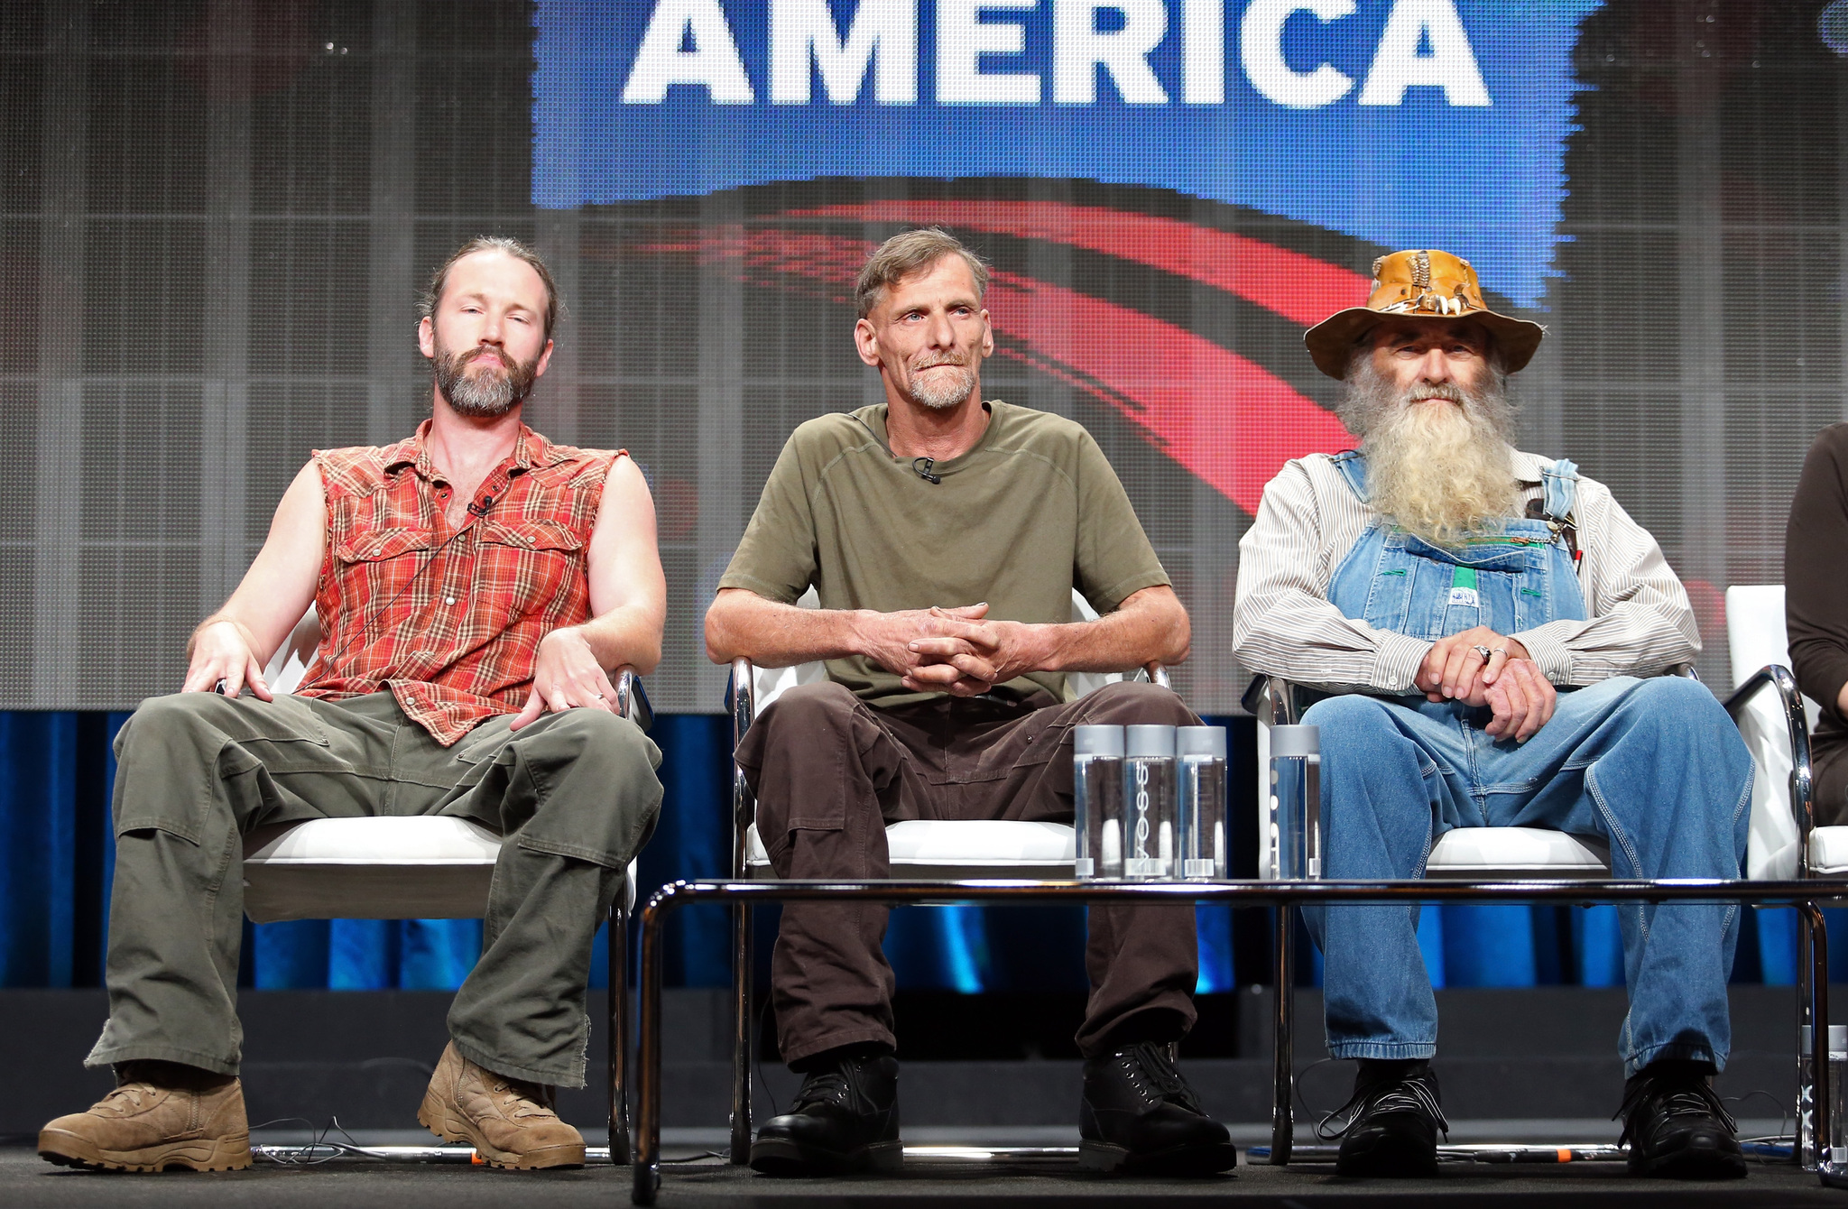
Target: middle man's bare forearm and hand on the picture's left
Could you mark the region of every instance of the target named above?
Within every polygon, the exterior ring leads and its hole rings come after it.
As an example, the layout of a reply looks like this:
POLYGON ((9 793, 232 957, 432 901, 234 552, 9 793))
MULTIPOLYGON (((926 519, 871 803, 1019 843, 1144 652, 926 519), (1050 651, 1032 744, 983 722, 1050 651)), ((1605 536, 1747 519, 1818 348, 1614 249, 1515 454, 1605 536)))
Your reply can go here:
POLYGON ((907 608, 894 614, 870 608, 800 608, 747 588, 721 588, 706 610, 706 654, 715 664, 748 658, 763 667, 863 654, 887 671, 904 675, 920 662, 911 649, 913 641, 942 638, 954 625, 987 612, 987 604, 907 608))

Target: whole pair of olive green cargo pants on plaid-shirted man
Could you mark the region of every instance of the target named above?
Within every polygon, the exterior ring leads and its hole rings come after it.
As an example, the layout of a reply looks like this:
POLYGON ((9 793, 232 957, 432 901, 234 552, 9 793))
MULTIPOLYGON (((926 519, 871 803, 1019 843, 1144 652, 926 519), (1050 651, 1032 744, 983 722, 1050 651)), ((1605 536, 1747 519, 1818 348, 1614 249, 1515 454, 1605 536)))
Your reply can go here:
POLYGON ((662 754, 602 710, 543 714, 519 734, 510 721, 442 747, 390 693, 144 701, 116 736, 109 1022, 87 1065, 159 1057, 237 1074, 244 836, 460 815, 506 841, 449 1035, 497 1074, 582 1087, 591 941, 654 828, 662 754))

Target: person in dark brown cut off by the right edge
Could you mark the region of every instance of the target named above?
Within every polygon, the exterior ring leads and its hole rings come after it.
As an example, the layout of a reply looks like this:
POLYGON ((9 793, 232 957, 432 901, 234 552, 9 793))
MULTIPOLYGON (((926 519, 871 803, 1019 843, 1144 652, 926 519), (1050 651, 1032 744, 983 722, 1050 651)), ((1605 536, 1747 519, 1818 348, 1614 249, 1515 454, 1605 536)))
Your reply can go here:
POLYGON ((1809 738, 1817 824, 1848 823, 1848 423, 1817 433, 1783 538, 1791 669, 1822 706, 1809 738))

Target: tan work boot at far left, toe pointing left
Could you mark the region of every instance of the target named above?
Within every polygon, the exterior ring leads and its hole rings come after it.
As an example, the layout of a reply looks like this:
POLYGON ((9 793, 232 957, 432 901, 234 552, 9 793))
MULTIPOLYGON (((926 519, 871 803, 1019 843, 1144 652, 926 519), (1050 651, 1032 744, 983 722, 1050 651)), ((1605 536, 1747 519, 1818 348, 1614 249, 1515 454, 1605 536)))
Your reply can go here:
POLYGON ((249 1166, 244 1085, 179 1063, 122 1063, 122 1083, 89 1113, 39 1130, 39 1157, 59 1166, 157 1172, 249 1166))

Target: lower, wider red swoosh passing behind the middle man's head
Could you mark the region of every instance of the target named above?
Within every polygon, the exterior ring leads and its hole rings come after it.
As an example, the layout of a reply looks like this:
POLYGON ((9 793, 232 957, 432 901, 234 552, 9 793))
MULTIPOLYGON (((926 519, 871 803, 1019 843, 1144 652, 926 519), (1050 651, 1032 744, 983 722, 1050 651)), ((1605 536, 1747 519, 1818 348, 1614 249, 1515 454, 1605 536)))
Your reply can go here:
MULTIPOLYGON (((643 251, 736 261, 747 277, 789 275, 850 299, 874 244, 808 231, 706 227, 643 251)), ((1262 366, 1140 311, 1064 287, 994 274, 998 349, 1109 403, 1148 440, 1249 514, 1290 458, 1355 444, 1342 423, 1262 366)))

